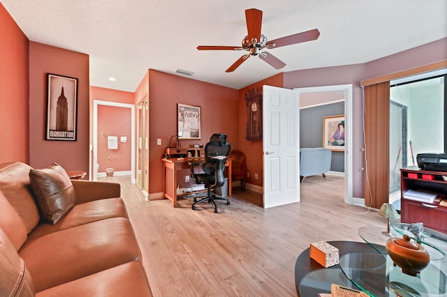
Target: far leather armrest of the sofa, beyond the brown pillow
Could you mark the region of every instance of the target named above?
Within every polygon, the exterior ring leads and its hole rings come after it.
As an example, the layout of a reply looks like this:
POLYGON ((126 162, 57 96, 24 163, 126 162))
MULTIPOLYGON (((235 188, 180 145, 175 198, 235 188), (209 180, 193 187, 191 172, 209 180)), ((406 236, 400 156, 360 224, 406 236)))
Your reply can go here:
POLYGON ((78 180, 73 180, 71 182, 75 189, 76 204, 82 204, 98 199, 121 197, 121 185, 119 185, 119 183, 78 180))

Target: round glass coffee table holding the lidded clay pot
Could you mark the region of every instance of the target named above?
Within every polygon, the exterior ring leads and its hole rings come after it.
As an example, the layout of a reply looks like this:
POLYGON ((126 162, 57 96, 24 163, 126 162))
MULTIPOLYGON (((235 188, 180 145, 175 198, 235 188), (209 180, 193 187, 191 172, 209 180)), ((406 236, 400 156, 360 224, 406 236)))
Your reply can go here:
MULTIPOLYGON (((394 224, 395 237, 408 231, 408 224, 394 224)), ((393 226, 393 224, 392 224, 393 226)), ((370 296, 447 296, 447 235, 424 229, 418 241, 430 252, 430 264, 416 277, 405 275, 393 265, 385 244, 385 228, 362 227, 358 233, 365 243, 328 241, 339 249, 340 264, 323 268, 309 257, 309 248, 295 263, 295 287, 298 296, 312 297, 330 293, 331 284, 365 291, 370 296)))

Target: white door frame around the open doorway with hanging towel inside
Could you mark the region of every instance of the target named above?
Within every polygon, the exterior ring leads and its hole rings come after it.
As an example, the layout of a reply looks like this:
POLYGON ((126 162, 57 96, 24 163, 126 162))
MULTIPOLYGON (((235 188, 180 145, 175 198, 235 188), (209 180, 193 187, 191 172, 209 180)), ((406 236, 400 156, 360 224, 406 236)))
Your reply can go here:
POLYGON ((93 100, 93 158, 90 168, 93 169, 93 181, 97 181, 98 172, 96 172, 95 165, 98 162, 98 105, 123 107, 131 109, 131 182, 135 183, 135 142, 133 137, 135 135, 135 105, 128 103, 109 102, 103 100, 93 100))

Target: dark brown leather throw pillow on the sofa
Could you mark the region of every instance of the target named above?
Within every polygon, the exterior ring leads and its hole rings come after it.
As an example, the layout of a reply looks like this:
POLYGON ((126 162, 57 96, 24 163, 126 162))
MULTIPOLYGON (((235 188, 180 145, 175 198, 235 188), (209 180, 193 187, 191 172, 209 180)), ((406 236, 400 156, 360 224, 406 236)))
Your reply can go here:
POLYGON ((31 169, 29 179, 42 217, 55 224, 75 205, 75 190, 61 165, 31 169))

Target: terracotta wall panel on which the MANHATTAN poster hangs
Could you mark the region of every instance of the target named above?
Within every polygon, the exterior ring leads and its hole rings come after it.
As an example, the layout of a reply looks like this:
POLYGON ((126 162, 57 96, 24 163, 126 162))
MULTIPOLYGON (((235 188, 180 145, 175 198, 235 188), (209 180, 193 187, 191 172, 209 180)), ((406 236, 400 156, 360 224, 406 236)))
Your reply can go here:
POLYGON ((42 43, 29 43, 29 164, 53 162, 89 172, 89 56, 42 43), (47 73, 78 78, 77 141, 45 140, 47 73))

